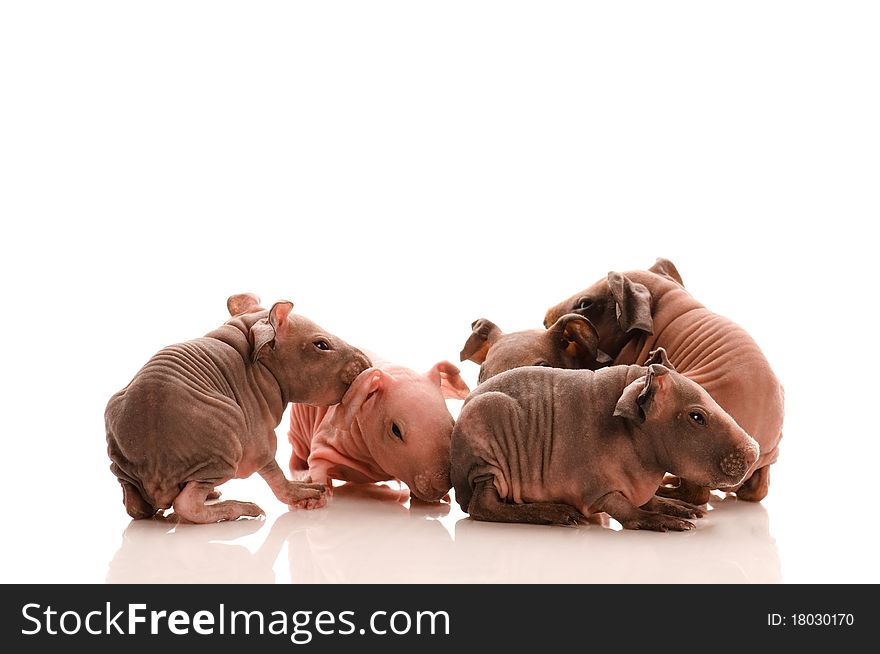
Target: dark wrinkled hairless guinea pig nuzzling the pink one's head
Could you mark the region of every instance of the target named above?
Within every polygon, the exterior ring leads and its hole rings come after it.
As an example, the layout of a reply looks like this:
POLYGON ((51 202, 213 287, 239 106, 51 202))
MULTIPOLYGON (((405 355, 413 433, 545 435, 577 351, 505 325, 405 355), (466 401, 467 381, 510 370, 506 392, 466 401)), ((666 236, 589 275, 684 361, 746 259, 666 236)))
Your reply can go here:
POLYGON ((325 501, 320 484, 289 481, 275 462, 275 427, 290 402, 335 404, 370 362, 293 304, 259 307, 250 294, 227 302, 233 318, 160 350, 107 404, 110 469, 133 518, 174 507, 190 522, 257 516, 250 502, 216 499, 214 489, 259 472, 290 507, 325 501))

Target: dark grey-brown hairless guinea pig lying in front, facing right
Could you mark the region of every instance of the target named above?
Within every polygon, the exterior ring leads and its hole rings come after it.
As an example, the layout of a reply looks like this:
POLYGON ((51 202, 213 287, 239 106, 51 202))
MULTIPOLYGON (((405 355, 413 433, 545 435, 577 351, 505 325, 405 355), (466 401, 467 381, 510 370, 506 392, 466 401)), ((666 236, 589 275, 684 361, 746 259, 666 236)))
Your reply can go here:
POLYGON ((667 471, 733 487, 758 444, 662 349, 647 366, 517 368, 480 384, 452 432, 452 481, 477 520, 693 529, 702 511, 656 497, 667 471))

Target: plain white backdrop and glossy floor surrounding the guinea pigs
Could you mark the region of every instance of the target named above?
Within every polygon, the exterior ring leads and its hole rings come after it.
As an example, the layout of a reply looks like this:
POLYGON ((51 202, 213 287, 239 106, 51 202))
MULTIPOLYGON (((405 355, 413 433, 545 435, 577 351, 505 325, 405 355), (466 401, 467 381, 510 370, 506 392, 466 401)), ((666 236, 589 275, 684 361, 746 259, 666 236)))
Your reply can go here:
POLYGON ((880 581, 878 14, 4 3, 0 580, 880 581), (657 256, 785 384, 762 505, 623 533, 364 490, 288 513, 254 477, 223 490, 265 521, 123 537, 104 406, 228 295, 426 370, 657 256))

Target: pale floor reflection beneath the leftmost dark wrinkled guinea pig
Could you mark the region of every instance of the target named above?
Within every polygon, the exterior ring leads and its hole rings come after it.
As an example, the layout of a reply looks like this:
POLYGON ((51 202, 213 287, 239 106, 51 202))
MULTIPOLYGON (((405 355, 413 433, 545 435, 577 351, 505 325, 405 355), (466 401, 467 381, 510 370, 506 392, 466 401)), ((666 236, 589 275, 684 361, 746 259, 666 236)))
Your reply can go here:
MULTIPOLYGON (((133 520, 107 571, 108 583, 274 583, 272 564, 281 543, 256 554, 243 545, 217 543, 256 533, 263 520, 212 525, 173 519, 133 520)), ((283 542, 283 541, 282 541, 283 542)))

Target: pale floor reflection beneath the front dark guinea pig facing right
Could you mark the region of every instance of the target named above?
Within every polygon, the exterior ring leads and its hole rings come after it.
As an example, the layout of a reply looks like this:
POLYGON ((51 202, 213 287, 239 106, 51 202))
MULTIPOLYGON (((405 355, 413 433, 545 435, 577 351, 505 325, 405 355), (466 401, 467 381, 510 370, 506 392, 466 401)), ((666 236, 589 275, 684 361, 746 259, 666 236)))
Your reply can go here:
POLYGON ((764 507, 732 497, 713 497, 712 506, 701 528, 684 538, 460 520, 455 525, 456 571, 479 583, 782 581, 764 507))

